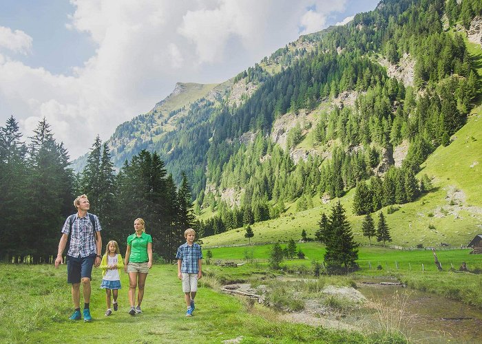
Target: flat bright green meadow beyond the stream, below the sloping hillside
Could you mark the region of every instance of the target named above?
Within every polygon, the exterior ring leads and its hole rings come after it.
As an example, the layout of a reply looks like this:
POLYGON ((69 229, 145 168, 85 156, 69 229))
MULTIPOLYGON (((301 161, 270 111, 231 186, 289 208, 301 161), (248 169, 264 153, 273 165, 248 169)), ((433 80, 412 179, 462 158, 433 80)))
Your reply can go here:
MULTIPOLYGON (((286 270, 311 272, 313 270, 311 261, 313 259, 322 261, 324 247, 317 243, 298 244, 306 255, 306 259, 285 260, 282 266, 286 270)), ((256 280, 263 278, 262 270, 267 268, 267 258, 271 245, 260 245, 250 247, 233 248, 209 248, 213 253, 212 261, 222 259, 223 261, 241 261, 244 257, 244 250, 252 250, 253 258, 258 261, 255 275, 250 270, 251 264, 238 268, 221 268, 209 266, 209 269, 216 270, 216 275, 222 281, 256 280)), ((207 248, 205 248, 207 250, 207 248)), ((430 250, 394 250, 389 248, 368 248, 359 249, 357 260, 361 270, 350 275, 348 279, 362 279, 364 277, 396 278, 406 283, 410 288, 434 292, 443 297, 462 301, 469 305, 482 308, 482 275, 452 272, 452 265, 458 270, 462 261, 467 263, 469 270, 482 270, 482 255, 470 255, 470 250, 438 250, 437 258, 442 264, 443 271, 439 272, 434 264, 433 253, 430 250), (371 268, 370 268, 371 264, 371 268), (423 267, 422 267, 423 264, 423 267), (381 270, 377 270, 381 266, 381 270)), ((347 285, 343 277, 339 281, 333 281, 335 285, 347 285)), ((349 284, 349 283, 348 283, 349 284)))

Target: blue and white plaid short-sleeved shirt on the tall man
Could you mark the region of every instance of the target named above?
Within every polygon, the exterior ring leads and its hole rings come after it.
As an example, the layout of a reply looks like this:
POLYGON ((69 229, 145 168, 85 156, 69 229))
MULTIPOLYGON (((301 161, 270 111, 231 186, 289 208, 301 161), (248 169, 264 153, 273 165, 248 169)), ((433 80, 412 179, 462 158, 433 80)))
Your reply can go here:
MULTIPOLYGON (((94 215, 94 221, 96 223, 96 231, 102 230, 101 223, 96 215, 94 215)), ((67 255, 70 257, 87 257, 97 253, 94 228, 92 228, 89 213, 85 214, 84 217, 78 217, 78 214, 67 217, 62 227, 62 233, 70 235, 70 246, 67 251, 67 255), (72 224, 72 233, 70 233, 70 219, 72 216, 75 218, 72 224)))

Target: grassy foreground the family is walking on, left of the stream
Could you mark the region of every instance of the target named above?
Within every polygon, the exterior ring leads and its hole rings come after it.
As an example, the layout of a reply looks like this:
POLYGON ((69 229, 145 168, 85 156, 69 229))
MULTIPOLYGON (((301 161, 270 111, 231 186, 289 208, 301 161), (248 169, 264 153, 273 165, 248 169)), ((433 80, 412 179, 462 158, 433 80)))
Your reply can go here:
MULTIPOLYGON (((286 323, 274 312, 252 310, 242 299, 200 286, 196 311, 185 317, 176 266, 156 265, 147 277, 144 313, 127 314, 127 275, 122 274, 119 310, 105 317, 105 293, 94 269, 92 323, 72 322, 65 266, 0 266, 2 343, 221 343, 243 336, 243 343, 373 343, 379 334, 325 330, 286 323), (251 309, 251 310, 250 310, 251 309)), ((201 280, 203 281, 203 280, 201 280)), ((205 281, 209 281, 206 277, 205 281)), ((82 301, 81 301, 82 302, 82 301)))

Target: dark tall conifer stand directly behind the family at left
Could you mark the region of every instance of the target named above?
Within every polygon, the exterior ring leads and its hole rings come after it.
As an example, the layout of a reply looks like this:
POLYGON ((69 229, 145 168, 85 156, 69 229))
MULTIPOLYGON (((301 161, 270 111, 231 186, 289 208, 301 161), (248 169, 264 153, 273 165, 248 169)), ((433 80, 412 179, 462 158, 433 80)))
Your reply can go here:
POLYGON ((0 130, 1 261, 52 262, 65 218, 76 213, 74 199, 83 193, 101 221, 104 244, 116 240, 125 250, 134 219, 142 217, 154 254, 174 259, 184 230, 193 226, 191 191, 185 175, 174 184, 157 153, 140 151, 116 174, 107 145, 97 137, 87 166, 75 174, 45 119, 28 146, 13 117, 0 130))

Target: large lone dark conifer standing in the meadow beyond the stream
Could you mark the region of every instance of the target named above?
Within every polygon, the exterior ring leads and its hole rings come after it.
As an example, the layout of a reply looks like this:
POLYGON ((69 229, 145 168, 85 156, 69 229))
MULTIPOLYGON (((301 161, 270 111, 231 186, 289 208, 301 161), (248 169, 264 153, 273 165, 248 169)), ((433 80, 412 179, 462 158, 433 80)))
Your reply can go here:
POLYGON ((331 237, 326 240, 324 261, 326 269, 331 273, 348 272, 357 268, 358 244, 353 239, 353 233, 345 215, 342 204, 337 202, 331 210, 328 219, 331 237))

